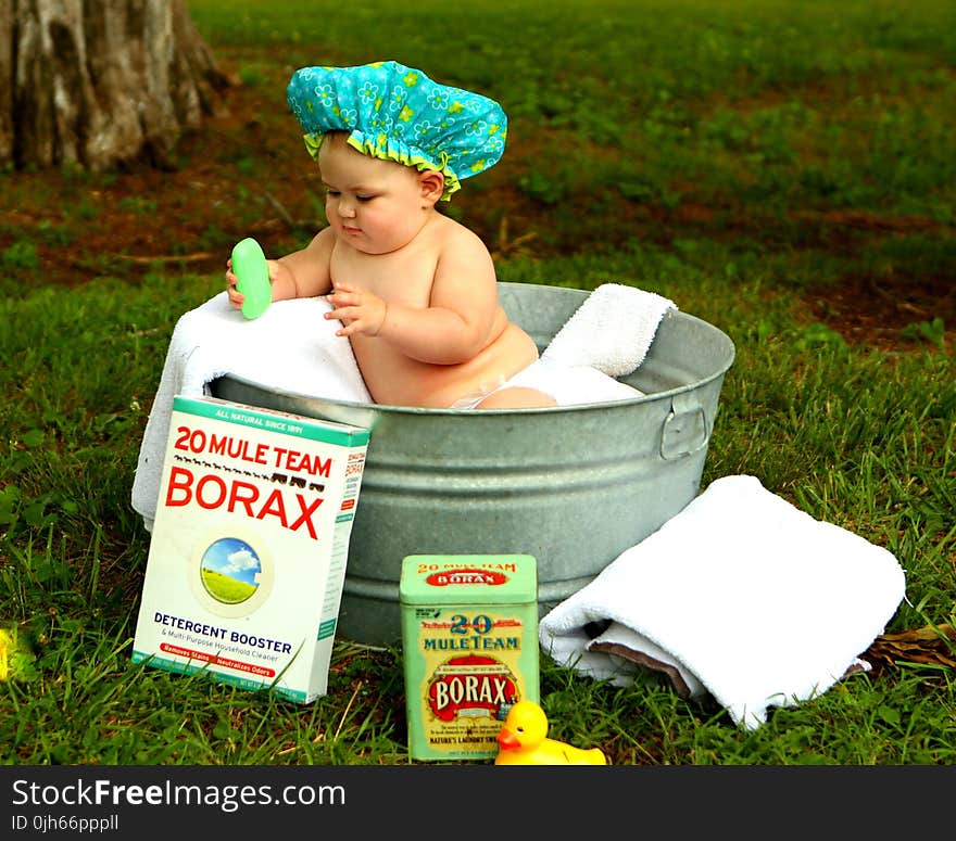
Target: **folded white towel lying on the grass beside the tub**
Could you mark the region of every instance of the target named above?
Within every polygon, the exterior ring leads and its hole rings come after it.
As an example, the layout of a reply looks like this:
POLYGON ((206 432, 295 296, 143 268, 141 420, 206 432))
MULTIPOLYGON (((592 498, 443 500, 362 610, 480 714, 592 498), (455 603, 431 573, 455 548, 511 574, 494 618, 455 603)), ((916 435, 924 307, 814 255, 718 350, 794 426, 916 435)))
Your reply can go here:
POLYGON ((754 729, 768 706, 794 706, 869 668, 858 655, 904 591, 886 549, 754 476, 726 476, 551 610, 540 641, 559 664, 620 686, 636 663, 659 668, 754 729), (606 626, 594 639, 591 623, 606 626))

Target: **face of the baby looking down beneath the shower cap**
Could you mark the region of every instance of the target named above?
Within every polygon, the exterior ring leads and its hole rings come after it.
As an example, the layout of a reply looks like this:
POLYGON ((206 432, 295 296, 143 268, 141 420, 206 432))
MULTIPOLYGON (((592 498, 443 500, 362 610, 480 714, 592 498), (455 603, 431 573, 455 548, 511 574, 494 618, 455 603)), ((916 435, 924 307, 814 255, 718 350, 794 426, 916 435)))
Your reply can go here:
POLYGON ((431 205, 423 201, 414 167, 364 155, 344 135, 325 139, 318 167, 329 225, 352 247, 388 254, 407 245, 425 224, 431 205))

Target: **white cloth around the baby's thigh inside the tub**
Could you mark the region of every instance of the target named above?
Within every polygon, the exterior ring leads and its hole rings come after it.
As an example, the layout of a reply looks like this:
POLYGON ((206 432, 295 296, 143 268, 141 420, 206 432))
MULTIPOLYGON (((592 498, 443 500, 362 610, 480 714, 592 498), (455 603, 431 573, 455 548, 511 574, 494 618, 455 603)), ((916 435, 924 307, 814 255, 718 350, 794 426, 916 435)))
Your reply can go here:
POLYGON ((460 397, 450 408, 474 409, 490 394, 503 388, 537 388, 554 397, 558 406, 579 406, 587 403, 608 403, 643 397, 643 392, 608 377, 589 365, 561 365, 537 359, 510 380, 460 397))

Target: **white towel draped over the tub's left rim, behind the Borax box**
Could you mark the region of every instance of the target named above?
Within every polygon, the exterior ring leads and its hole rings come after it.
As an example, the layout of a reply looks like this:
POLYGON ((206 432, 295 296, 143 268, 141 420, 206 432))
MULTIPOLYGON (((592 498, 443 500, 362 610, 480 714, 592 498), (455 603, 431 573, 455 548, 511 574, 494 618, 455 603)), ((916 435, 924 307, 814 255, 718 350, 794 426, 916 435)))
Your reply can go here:
POLYGON ((176 322, 160 385, 150 409, 136 475, 133 508, 152 531, 169 412, 177 394, 207 394, 207 384, 226 373, 328 399, 369 403, 370 396, 349 340, 335 334, 338 321, 323 318, 324 297, 277 301, 260 318, 246 319, 226 292, 176 322))

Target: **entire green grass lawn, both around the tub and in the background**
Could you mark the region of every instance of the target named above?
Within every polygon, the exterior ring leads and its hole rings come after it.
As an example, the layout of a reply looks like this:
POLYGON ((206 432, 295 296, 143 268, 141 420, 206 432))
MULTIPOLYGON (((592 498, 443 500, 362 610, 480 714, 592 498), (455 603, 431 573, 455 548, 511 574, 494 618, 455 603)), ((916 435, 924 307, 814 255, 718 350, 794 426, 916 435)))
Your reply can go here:
MULTIPOLYGON (((427 25, 446 9, 437 2, 415 14, 189 8, 277 113, 291 68, 380 58, 499 98, 515 154, 460 212, 500 213, 507 180, 528 202, 514 237, 575 240, 565 256, 501 259, 501 280, 629 283, 722 329, 737 358, 704 484, 756 475, 894 552, 907 594, 889 630, 956 621, 952 326, 914 318, 921 345, 875 351, 817 323, 804 301, 821 279, 956 269, 951 3, 478 0, 455 10, 456 49, 427 25), (682 221, 688 204, 709 207, 709 226, 682 221), (847 208, 943 227, 834 241, 797 219, 847 208)), ((255 149, 222 154, 237 171, 269 170, 255 149)), ((222 277, 103 258, 92 282, 46 284, 36 245, 76 247, 98 213, 96 179, 60 177, 75 201, 58 224, 0 229, 0 628, 15 639, 0 761, 410 762, 397 650, 339 640, 329 695, 309 705, 131 663, 149 548, 129 501, 139 442, 176 320, 222 277)), ((0 176, 2 204, 26 206, 30 183, 0 176)), ((155 197, 127 209, 148 219, 155 197)), ((215 246, 228 228, 184 247, 215 246)), ((933 663, 847 677, 752 732, 652 676, 617 688, 542 659, 541 689, 554 738, 599 744, 618 765, 956 762, 956 672, 933 663)))

